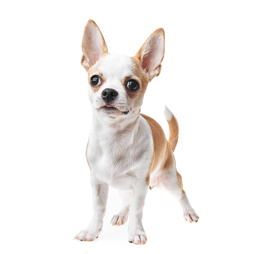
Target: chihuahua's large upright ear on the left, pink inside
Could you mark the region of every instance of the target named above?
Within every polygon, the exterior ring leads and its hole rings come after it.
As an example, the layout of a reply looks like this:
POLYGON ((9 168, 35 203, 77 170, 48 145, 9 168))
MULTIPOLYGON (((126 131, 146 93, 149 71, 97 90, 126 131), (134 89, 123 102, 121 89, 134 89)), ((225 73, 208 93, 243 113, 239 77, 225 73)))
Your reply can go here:
POLYGON ((89 20, 86 28, 84 28, 84 36, 82 36, 81 65, 88 72, 90 67, 100 59, 101 55, 107 52, 108 48, 100 28, 94 20, 89 20))

